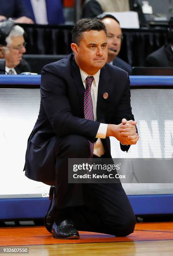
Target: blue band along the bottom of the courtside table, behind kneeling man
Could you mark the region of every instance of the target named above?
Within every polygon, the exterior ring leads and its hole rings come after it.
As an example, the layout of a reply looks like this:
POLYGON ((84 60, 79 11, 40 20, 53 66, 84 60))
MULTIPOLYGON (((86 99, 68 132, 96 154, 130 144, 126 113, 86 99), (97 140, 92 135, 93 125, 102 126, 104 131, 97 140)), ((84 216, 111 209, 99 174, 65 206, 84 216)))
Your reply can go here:
MULTIPOLYGON (((173 214, 173 195, 129 195, 135 215, 173 214)), ((47 198, 0 199, 0 220, 44 218, 47 198)))

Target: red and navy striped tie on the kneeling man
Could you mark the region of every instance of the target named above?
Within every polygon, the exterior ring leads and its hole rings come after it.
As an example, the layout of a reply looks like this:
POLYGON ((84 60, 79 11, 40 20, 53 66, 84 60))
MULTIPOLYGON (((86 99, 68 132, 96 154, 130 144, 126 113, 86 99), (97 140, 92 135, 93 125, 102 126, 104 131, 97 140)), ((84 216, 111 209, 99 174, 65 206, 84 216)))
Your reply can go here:
MULTIPOLYGON (((91 96, 91 86, 94 77, 86 77, 86 89, 84 93, 84 117, 88 120, 94 121, 94 113, 93 113, 93 105, 92 105, 92 96, 91 96)), ((89 141, 89 148, 90 148, 90 158, 93 157, 94 151, 94 143, 89 141)))

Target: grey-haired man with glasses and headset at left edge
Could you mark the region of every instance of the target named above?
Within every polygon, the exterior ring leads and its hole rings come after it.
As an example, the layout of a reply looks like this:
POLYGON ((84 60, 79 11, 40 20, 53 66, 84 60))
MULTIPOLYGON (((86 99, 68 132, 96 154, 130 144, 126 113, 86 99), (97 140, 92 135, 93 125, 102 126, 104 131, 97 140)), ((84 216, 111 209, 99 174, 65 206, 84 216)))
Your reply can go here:
POLYGON ((0 59, 5 59, 6 74, 29 72, 28 63, 22 59, 26 52, 24 30, 11 20, 0 25, 0 59))

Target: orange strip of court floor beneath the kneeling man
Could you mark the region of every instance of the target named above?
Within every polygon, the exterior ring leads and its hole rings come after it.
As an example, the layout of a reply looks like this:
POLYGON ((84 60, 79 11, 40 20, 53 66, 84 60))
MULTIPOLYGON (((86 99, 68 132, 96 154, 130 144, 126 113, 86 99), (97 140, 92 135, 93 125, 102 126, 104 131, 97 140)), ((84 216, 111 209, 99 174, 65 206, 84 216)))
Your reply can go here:
POLYGON ((134 233, 126 237, 85 231, 79 234, 79 240, 69 240, 53 238, 43 226, 0 228, 0 246, 173 240, 173 222, 137 223, 134 233))

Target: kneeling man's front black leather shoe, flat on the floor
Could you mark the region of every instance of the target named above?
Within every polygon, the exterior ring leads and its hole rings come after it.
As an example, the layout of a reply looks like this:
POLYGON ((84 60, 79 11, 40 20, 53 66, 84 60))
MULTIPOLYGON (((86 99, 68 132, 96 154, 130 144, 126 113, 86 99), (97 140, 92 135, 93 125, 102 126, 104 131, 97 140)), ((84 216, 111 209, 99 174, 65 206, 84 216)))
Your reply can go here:
POLYGON ((59 226, 55 221, 52 226, 52 235, 58 239, 79 239, 79 233, 71 220, 63 220, 59 226))

